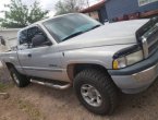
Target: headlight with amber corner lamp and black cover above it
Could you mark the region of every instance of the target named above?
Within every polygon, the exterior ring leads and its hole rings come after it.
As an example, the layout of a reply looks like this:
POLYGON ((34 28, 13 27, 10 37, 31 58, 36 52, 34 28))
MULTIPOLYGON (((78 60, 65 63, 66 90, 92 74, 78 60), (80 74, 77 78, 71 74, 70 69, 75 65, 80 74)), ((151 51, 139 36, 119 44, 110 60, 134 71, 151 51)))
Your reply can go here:
POLYGON ((144 59, 143 51, 137 46, 133 46, 125 50, 121 50, 120 52, 114 55, 114 57, 116 58, 113 58, 114 60, 112 64, 113 69, 122 69, 127 65, 132 65, 136 62, 139 62, 144 59))

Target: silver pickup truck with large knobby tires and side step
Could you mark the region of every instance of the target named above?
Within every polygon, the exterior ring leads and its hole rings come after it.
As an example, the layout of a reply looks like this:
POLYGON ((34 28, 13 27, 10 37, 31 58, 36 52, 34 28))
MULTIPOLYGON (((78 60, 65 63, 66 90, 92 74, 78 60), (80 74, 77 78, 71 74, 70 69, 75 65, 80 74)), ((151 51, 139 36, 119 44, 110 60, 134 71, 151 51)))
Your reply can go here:
POLYGON ((74 87, 89 111, 111 113, 118 92, 145 91, 158 75, 158 17, 118 23, 66 14, 17 33, 17 47, 0 55, 19 87, 31 82, 74 87))

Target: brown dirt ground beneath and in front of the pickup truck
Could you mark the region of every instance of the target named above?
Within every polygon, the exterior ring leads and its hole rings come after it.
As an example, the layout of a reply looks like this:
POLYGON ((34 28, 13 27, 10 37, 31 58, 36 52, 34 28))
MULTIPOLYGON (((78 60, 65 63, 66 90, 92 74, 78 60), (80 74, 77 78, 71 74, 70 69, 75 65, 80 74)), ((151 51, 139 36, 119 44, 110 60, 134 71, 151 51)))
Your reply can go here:
POLYGON ((31 84, 17 88, 10 83, 7 71, 0 70, 0 91, 9 93, 0 98, 0 120, 157 120, 158 81, 144 93, 120 95, 120 104, 112 116, 88 112, 76 99, 73 89, 57 91, 31 84), (4 86, 2 87, 2 85, 4 86))

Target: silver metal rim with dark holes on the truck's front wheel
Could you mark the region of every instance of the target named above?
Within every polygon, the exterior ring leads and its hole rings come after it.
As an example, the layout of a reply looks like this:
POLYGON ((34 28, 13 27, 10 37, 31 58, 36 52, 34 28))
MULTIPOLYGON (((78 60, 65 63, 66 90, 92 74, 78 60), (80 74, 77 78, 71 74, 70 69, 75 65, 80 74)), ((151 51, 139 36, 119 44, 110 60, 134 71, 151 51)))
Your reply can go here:
POLYGON ((100 93, 92 85, 82 85, 81 94, 84 100, 93 107, 99 107, 102 103, 102 97, 100 93))

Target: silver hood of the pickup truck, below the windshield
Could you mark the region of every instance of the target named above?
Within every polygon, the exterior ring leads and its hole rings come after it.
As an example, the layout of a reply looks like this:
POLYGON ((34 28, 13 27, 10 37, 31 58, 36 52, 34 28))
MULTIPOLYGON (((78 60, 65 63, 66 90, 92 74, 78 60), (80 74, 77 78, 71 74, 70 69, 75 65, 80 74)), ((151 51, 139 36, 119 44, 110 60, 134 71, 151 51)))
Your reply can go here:
POLYGON ((136 31, 149 20, 132 20, 105 25, 59 44, 64 49, 136 44, 136 31))

